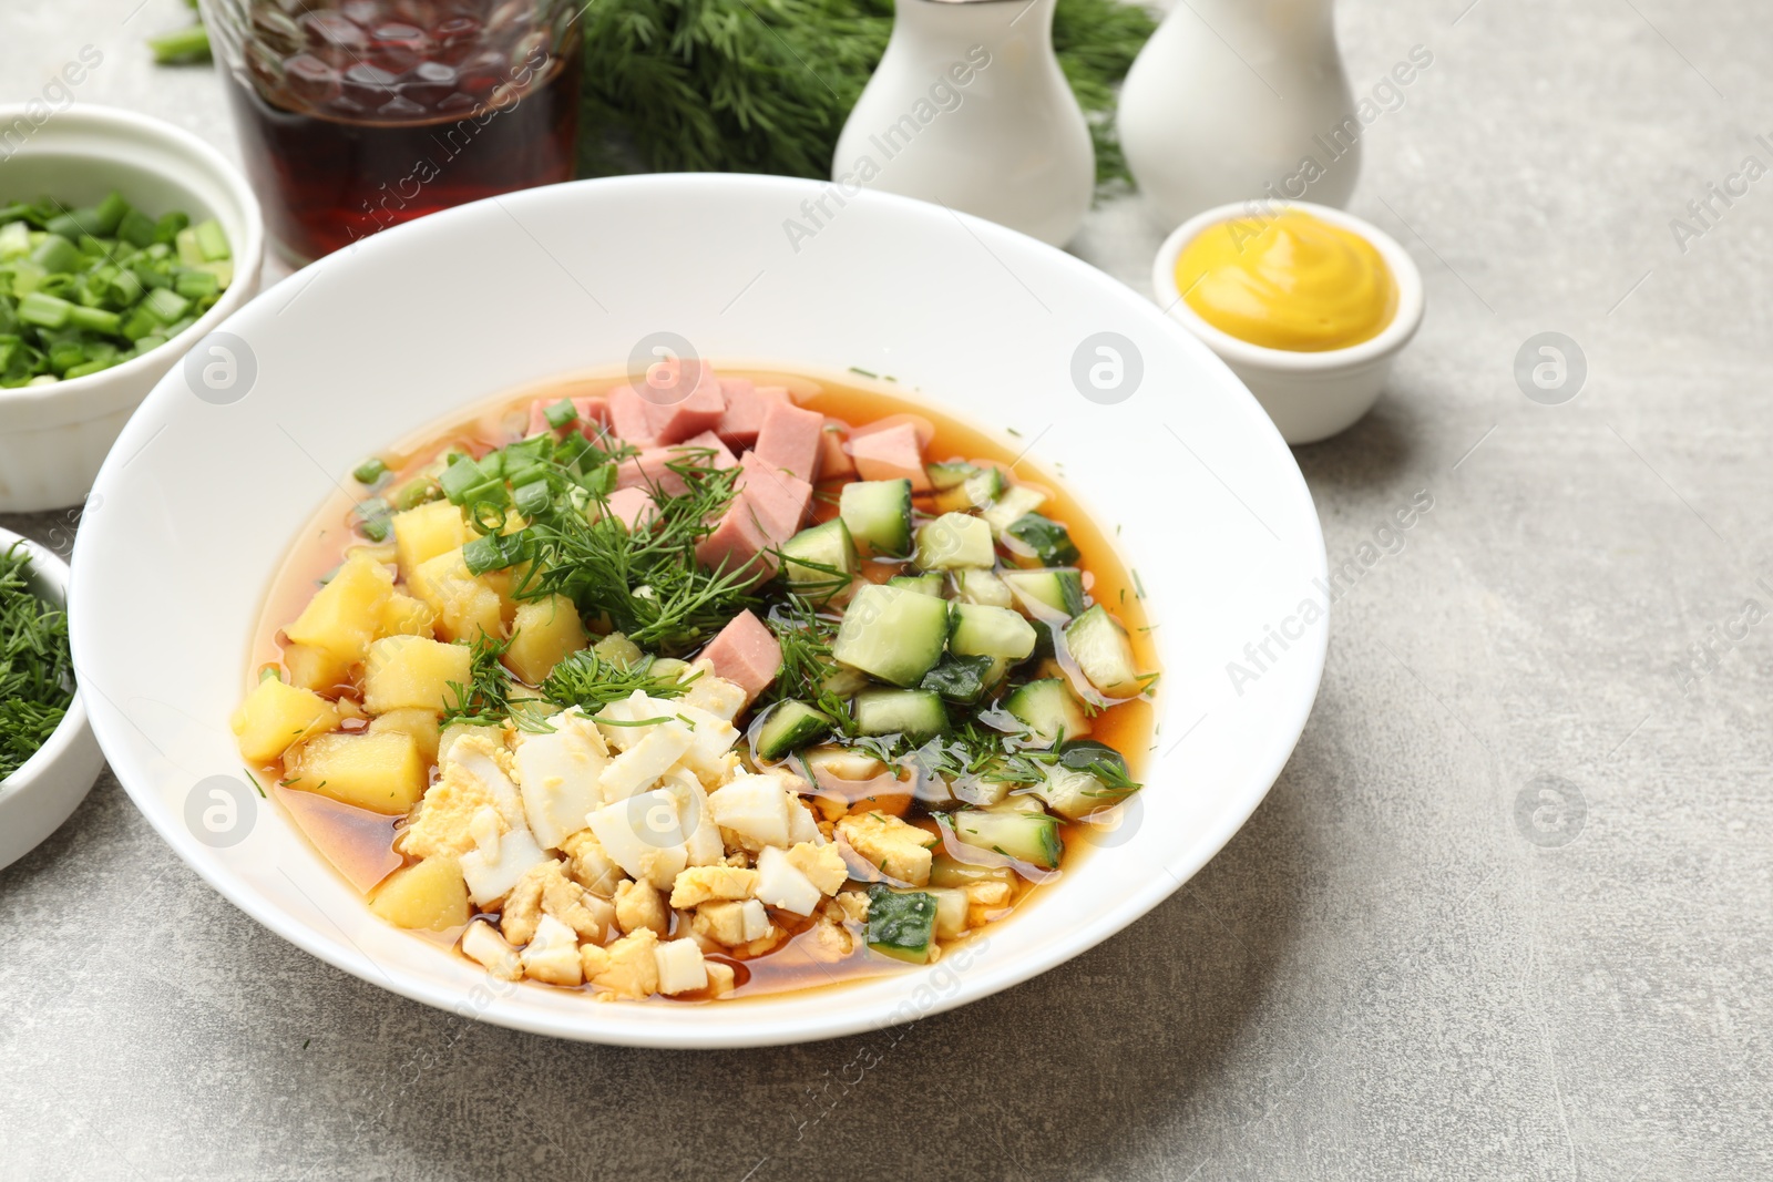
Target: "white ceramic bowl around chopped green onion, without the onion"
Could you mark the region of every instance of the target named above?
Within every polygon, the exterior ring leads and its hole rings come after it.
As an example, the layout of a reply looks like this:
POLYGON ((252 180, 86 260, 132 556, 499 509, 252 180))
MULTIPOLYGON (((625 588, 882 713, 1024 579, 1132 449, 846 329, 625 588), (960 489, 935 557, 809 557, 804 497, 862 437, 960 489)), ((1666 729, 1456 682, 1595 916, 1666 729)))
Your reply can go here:
POLYGON ((160 216, 216 218, 234 252, 234 284, 183 333, 131 362, 51 386, 0 390, 0 512, 80 502, 124 422, 168 369, 259 287, 264 223, 246 179, 213 147, 170 124, 80 103, 43 119, 41 105, 0 106, 0 128, 30 128, 0 156, 0 202, 51 195, 98 204, 112 190, 160 216))

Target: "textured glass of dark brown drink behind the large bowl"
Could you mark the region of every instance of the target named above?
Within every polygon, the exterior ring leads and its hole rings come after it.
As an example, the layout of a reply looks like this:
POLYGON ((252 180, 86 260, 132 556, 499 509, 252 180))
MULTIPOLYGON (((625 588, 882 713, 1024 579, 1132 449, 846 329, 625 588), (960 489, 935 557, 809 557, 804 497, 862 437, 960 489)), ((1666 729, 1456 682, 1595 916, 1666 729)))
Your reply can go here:
POLYGON ((438 209, 569 181, 574 12, 550 0, 206 0, 280 250, 307 262, 438 209))

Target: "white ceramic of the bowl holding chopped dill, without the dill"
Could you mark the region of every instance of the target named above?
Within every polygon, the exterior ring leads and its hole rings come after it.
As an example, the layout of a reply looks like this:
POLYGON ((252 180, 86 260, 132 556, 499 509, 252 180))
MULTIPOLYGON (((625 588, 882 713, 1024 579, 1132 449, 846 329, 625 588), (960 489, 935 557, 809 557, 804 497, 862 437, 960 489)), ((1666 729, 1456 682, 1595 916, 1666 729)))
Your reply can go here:
MULTIPOLYGON (((30 551, 39 594, 50 603, 66 603, 67 564, 11 530, 0 530, 0 553, 20 540, 30 551)), ((105 755, 99 753, 92 727, 87 725, 87 707, 76 693, 50 741, 23 767, 0 780, 0 868, 11 867, 55 833, 80 801, 87 799, 101 767, 105 755)))

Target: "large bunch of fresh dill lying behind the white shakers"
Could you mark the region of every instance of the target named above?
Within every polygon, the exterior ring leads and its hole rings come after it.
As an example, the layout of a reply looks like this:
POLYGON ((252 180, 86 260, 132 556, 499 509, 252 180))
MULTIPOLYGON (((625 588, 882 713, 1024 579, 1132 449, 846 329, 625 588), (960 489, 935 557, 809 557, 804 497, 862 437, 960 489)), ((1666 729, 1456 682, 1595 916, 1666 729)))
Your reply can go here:
MULTIPOLYGON (((830 177, 837 135, 892 32, 890 0, 601 0, 585 27, 582 175, 637 170, 830 177)), ((1115 83, 1154 23, 1122 0, 1058 0, 1053 46, 1096 140, 1097 184, 1129 183, 1115 83)))

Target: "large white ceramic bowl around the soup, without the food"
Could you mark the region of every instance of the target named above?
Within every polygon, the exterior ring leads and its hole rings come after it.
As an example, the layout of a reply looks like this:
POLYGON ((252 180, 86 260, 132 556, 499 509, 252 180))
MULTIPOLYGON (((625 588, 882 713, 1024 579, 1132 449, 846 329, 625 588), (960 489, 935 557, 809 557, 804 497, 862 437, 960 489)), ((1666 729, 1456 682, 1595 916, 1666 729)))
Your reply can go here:
POLYGON ((216 890, 374 985, 484 1021, 596 1042, 755 1046, 906 1021, 1050 969, 1168 897, 1243 824, 1298 739, 1324 657, 1316 627, 1241 696, 1225 672, 1324 574, 1291 452, 1199 340, 1078 259, 885 193, 851 198, 796 252, 782 223, 821 191, 784 177, 651 175, 445 211, 330 255, 234 315, 225 331, 255 372, 236 402, 195 397, 181 372, 160 383, 82 523, 74 654, 103 689, 89 709, 117 776, 216 890), (1115 849, 936 966, 816 1003, 598 1005, 491 984, 385 927, 257 796, 223 826, 227 845, 186 820, 225 787, 200 787, 207 778, 241 774, 227 718, 248 688, 248 636, 335 482, 511 386, 621 369, 660 331, 716 362, 894 374, 904 392, 1032 448, 1030 464, 1064 464, 1083 503, 1122 526, 1160 624, 1149 787, 1115 849), (1124 383, 1085 397, 1073 374, 1112 362, 1097 344, 1119 351, 1124 383))

